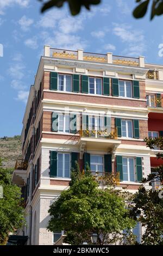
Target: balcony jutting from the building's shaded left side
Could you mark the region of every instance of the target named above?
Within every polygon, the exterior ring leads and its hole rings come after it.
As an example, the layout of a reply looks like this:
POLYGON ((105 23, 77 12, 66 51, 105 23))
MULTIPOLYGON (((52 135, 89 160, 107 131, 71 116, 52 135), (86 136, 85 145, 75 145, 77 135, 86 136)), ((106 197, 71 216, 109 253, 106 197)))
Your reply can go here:
POLYGON ((26 182, 26 170, 28 167, 27 160, 17 159, 15 164, 15 170, 12 174, 12 183, 17 184, 19 186, 24 186, 26 182))

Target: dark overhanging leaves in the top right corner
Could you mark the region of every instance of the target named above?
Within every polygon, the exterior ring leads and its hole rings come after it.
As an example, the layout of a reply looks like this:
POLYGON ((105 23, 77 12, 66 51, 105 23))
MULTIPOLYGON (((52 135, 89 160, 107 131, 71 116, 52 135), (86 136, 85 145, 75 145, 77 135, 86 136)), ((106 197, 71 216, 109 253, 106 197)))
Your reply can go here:
POLYGON ((136 3, 139 5, 133 11, 133 15, 136 19, 140 19, 144 17, 147 13, 147 9, 149 4, 152 5, 151 8, 151 20, 154 18, 155 15, 162 15, 163 14, 163 1, 162 0, 135 0, 136 3))

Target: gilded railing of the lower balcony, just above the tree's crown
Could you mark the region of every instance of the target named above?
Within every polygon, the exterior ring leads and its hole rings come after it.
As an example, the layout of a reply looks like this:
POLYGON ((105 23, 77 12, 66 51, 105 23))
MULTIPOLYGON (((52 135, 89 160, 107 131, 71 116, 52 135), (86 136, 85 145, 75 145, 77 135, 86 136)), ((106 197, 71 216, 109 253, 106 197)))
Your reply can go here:
POLYGON ((120 185, 120 172, 114 173, 100 173, 91 172, 94 179, 102 186, 118 186, 120 185))

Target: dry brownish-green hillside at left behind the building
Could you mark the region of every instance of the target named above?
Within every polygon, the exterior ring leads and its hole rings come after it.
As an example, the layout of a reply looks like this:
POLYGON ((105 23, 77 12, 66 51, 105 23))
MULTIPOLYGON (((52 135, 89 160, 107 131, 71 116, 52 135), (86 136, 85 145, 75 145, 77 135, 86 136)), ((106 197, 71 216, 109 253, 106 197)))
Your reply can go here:
POLYGON ((20 136, 0 138, 0 157, 4 159, 3 166, 14 168, 18 156, 21 156, 20 136))

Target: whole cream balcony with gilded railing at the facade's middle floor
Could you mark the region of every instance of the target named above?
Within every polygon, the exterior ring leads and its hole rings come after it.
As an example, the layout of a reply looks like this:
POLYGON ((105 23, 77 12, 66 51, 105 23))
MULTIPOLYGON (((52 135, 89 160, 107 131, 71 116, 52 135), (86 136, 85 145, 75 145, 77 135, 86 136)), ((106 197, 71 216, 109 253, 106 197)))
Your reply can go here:
POLYGON ((85 148, 90 150, 107 150, 114 151, 121 140, 118 139, 117 129, 107 130, 80 130, 78 145, 80 148, 80 159, 83 157, 85 148))

